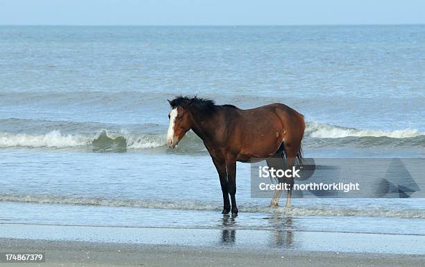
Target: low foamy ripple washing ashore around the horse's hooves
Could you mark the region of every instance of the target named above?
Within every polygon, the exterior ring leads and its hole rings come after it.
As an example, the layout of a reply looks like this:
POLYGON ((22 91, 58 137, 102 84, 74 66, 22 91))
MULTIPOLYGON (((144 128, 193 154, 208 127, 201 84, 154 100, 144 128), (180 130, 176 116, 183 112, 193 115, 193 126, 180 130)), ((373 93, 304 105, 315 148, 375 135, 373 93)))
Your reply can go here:
MULTIPOLYGON (((221 204, 203 202, 160 201, 160 200, 113 200, 98 197, 63 197, 53 195, 0 195, 0 201, 28 202, 39 204, 74 204, 105 207, 137 207, 145 209, 179 209, 197 211, 221 211, 221 204)), ((327 217, 381 217, 381 218, 425 218, 425 210, 406 209, 347 209, 343 207, 265 207, 239 206, 239 210, 249 213, 276 213, 288 216, 327 216, 327 217)))

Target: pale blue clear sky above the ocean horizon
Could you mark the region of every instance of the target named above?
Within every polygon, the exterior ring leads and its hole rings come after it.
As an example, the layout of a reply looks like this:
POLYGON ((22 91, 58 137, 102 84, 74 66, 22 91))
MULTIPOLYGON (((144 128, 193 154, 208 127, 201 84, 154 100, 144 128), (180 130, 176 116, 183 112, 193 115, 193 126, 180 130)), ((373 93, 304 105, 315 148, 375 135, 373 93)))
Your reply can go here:
POLYGON ((424 0, 0 0, 0 24, 424 24, 424 0))

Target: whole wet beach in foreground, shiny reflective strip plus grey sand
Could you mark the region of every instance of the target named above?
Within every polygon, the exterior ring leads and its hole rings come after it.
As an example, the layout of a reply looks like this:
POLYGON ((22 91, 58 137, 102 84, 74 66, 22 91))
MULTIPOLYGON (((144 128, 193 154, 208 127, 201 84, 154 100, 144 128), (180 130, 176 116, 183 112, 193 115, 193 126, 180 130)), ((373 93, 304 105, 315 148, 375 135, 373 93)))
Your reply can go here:
POLYGON ((422 234, 33 223, 0 229, 0 252, 45 253, 34 266, 422 266, 425 260, 422 234))

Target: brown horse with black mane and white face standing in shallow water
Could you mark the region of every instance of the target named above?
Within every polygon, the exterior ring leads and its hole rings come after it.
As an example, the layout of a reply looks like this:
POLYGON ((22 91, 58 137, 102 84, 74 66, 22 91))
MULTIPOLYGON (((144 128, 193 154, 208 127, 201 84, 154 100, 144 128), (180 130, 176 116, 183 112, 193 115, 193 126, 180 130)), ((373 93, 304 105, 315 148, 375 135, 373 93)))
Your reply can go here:
MULTIPOLYGON (((278 156, 287 168, 292 168, 297 159, 301 161, 301 140, 306 125, 303 115, 284 104, 243 110, 197 97, 176 97, 168 102, 172 111, 168 115, 167 146, 176 147, 190 129, 203 140, 219 175, 224 214, 230 210, 233 215, 238 214, 236 161, 278 156)), ((292 179, 287 206, 290 206, 293 184, 292 179)), ((274 192, 272 206, 277 206, 281 193, 274 192)))

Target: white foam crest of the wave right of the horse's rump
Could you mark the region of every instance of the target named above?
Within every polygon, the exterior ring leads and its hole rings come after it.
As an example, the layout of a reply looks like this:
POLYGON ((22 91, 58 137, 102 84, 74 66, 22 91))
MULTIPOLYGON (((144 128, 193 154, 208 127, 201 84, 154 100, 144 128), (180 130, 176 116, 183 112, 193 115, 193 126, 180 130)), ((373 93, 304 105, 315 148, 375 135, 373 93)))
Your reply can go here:
POLYGON ((313 138, 344 138, 350 136, 412 138, 417 136, 425 136, 425 133, 419 132, 416 129, 379 131, 340 127, 319 122, 309 122, 306 127, 306 136, 310 136, 313 138))

